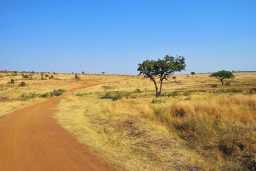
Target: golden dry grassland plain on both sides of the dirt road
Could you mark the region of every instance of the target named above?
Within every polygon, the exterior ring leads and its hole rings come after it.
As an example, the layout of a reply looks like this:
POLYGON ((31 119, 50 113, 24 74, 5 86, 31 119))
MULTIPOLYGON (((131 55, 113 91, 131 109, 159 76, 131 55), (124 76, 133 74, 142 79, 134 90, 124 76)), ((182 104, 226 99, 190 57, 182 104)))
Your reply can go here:
POLYGON ((256 170, 256 72, 233 74, 175 75, 155 97, 143 76, 1 71, 0 116, 61 96, 59 124, 118 170, 256 170))

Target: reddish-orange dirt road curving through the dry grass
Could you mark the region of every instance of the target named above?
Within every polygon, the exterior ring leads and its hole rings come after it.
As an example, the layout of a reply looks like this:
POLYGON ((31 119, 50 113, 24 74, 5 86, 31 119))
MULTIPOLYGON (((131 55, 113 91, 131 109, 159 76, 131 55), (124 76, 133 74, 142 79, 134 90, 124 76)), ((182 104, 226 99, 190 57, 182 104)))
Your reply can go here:
MULTIPOLYGON (((79 88, 69 92, 75 89, 79 88)), ((0 170, 113 170, 95 160, 53 118, 60 100, 49 99, 0 117, 0 170)))

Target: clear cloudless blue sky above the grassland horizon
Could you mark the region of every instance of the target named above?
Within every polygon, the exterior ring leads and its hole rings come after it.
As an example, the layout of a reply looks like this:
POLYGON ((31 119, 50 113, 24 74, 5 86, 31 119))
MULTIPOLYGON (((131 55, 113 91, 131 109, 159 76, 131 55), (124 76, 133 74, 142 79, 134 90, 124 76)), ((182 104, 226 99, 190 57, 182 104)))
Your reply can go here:
POLYGON ((0 70, 138 75, 165 55, 256 71, 256 1, 0 1, 0 70))

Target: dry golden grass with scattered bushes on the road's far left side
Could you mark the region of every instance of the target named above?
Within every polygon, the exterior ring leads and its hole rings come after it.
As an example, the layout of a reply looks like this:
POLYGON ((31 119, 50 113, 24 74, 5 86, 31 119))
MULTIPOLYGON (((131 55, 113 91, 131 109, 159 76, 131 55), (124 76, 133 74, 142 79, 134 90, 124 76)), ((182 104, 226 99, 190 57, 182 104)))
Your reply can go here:
POLYGON ((75 74, 0 71, 0 116, 46 100, 50 98, 49 92, 53 92, 54 89, 68 90, 93 83, 136 79, 136 77, 124 75, 111 77, 79 74, 78 77, 79 79, 75 79, 75 74), (28 78, 23 78, 25 75, 28 78), (14 83, 10 83, 11 79, 14 83), (25 85, 22 85, 22 82, 25 82, 25 85), (49 93, 46 98, 40 97, 46 93, 49 93))

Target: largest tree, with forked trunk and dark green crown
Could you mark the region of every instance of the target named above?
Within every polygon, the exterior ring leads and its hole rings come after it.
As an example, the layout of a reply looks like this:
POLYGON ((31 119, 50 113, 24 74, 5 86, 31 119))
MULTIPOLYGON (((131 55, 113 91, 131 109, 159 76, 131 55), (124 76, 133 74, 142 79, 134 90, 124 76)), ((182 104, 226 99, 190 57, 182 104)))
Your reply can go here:
POLYGON ((144 75, 144 78, 150 78, 155 84, 155 96, 159 97, 162 95, 163 80, 168 80, 174 72, 181 72, 185 70, 185 58, 183 56, 166 55, 163 60, 145 60, 143 63, 139 63, 138 71, 139 75, 144 75), (155 78, 160 78, 160 88, 158 89, 155 78))

